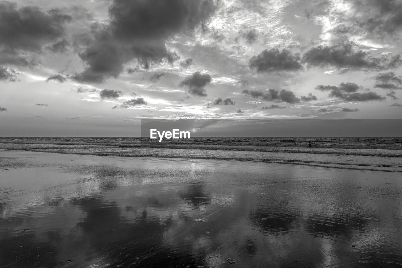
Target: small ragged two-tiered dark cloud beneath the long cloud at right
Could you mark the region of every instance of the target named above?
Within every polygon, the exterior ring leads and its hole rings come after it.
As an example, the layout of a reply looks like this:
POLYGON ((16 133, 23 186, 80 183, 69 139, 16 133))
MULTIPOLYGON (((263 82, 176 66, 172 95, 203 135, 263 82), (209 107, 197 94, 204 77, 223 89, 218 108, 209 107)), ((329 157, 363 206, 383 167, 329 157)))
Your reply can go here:
POLYGON ((340 83, 339 86, 316 86, 317 90, 330 91, 328 96, 341 98, 346 101, 369 101, 369 100, 384 100, 385 97, 378 95, 375 92, 357 92, 363 89, 355 83, 340 83))

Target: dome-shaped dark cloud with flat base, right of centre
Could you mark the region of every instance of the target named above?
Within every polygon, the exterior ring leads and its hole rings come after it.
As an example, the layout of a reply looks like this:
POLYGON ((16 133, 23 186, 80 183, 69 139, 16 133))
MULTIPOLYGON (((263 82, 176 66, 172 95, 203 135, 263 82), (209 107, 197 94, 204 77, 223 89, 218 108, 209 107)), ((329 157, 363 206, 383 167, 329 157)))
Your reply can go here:
POLYGON ((248 61, 250 69, 257 72, 295 71, 302 69, 300 57, 289 50, 270 49, 263 50, 257 56, 252 56, 248 61))

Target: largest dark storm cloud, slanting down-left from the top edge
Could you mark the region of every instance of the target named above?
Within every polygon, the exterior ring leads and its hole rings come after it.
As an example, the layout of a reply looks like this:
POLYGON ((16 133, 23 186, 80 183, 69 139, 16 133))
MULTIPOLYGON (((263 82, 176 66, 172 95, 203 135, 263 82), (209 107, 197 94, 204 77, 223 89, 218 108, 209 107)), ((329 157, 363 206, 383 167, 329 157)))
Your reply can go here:
POLYGON ((133 59, 144 69, 151 63, 177 59, 166 48, 166 40, 203 24, 214 11, 212 0, 114 0, 109 24, 93 25, 79 53, 86 70, 76 74, 80 81, 103 82, 117 78, 123 65, 133 59))

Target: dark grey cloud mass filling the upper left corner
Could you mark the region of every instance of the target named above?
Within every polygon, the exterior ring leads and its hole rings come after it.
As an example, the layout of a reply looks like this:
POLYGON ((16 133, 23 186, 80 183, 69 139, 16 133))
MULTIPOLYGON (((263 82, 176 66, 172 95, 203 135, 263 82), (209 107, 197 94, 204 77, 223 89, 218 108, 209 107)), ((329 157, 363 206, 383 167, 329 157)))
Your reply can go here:
POLYGON ((0 1, 0 63, 35 65, 37 53, 64 39, 71 20, 58 9, 44 12, 39 6, 17 8, 16 3, 0 1))

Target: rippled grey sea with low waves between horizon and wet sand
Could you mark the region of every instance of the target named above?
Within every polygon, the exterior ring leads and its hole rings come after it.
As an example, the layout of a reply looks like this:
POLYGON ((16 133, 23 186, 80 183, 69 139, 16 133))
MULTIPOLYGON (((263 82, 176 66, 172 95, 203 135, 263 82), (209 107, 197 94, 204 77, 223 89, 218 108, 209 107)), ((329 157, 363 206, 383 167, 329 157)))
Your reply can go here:
POLYGON ((402 137, 191 137, 161 143, 141 137, 4 137, 0 149, 402 172, 402 137))

